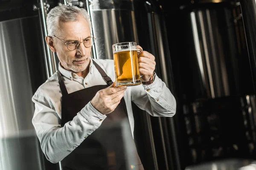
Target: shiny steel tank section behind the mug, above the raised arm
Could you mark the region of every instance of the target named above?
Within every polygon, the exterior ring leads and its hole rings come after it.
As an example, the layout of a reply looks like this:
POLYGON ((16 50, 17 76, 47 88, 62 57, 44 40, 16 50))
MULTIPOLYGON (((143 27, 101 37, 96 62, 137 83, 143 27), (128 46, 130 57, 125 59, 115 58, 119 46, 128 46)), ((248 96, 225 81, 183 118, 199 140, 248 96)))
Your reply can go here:
POLYGON ((96 37, 94 58, 113 59, 112 44, 135 41, 157 60, 157 72, 168 84, 166 58, 169 47, 159 18, 160 10, 144 0, 90 0, 93 35, 96 37))

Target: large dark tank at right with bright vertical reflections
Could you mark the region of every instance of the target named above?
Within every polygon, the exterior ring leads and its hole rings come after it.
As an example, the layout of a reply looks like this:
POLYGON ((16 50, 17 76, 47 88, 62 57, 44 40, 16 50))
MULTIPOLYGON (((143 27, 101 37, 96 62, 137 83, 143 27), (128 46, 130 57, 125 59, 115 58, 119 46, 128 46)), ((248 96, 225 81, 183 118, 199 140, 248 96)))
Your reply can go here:
POLYGON ((255 96, 239 1, 183 0, 165 10, 180 162, 255 156, 255 96), (178 17, 175 17, 178 16, 178 17))

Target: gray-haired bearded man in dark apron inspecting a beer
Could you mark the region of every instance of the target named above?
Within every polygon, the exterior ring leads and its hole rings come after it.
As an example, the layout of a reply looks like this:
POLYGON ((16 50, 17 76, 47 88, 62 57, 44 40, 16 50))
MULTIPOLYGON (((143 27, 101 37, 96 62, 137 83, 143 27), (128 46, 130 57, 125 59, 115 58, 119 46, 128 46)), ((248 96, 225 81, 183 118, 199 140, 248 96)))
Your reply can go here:
MULTIPOLYGON (((113 60, 90 57, 95 40, 91 27, 83 8, 57 6, 49 11, 45 40, 60 62, 32 97, 32 123, 46 158, 61 161, 63 170, 126 170, 118 144, 122 135, 102 133, 108 130, 104 127, 127 119, 128 137, 135 146, 131 102, 151 116, 171 117, 176 101, 154 73, 154 56, 147 51, 139 54, 143 84, 115 87, 113 60)), ((133 169, 143 170, 139 156, 132 163, 133 169)))

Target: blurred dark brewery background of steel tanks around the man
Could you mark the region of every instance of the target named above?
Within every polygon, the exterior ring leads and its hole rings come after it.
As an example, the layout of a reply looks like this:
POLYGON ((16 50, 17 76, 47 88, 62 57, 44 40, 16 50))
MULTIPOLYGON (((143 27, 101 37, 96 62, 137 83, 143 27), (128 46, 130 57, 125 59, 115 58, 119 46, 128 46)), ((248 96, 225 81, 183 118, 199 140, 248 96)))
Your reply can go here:
POLYGON ((32 95, 55 71, 46 17, 55 6, 85 8, 92 57, 135 41, 156 57, 177 101, 172 118, 134 109, 145 170, 256 170, 256 1, 0 0, 0 170, 59 170, 32 126, 32 95))

